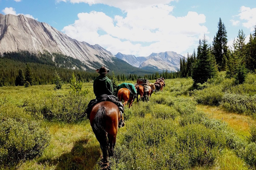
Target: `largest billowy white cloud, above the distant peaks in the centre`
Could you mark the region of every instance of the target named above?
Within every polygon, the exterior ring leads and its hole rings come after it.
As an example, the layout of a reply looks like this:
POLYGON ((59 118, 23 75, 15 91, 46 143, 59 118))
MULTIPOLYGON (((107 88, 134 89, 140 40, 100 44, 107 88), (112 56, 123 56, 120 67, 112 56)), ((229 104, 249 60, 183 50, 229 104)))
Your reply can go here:
POLYGON ((208 30, 203 14, 188 12, 174 17, 169 5, 127 10, 125 17, 111 18, 103 12, 79 13, 74 24, 63 28, 73 39, 100 44, 113 54, 148 56, 152 52, 185 52, 198 44, 208 30))

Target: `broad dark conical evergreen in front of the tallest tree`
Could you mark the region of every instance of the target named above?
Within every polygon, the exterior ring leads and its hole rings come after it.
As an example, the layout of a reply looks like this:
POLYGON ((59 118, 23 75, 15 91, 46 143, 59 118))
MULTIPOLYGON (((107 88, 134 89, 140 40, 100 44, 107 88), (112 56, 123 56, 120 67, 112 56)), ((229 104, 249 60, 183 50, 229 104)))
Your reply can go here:
POLYGON ((208 46, 204 36, 201 53, 199 54, 199 57, 197 57, 197 61, 192 69, 194 85, 197 83, 203 84, 209 78, 214 77, 217 74, 216 60, 210 53, 208 46))

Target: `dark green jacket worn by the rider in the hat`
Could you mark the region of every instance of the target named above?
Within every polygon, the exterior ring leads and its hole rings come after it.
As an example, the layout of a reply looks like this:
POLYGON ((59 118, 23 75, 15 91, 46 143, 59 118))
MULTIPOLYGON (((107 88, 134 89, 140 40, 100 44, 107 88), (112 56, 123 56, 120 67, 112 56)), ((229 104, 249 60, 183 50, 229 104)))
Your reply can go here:
POLYGON ((93 82, 93 92, 96 98, 101 95, 113 95, 113 85, 112 81, 107 76, 98 76, 93 82))

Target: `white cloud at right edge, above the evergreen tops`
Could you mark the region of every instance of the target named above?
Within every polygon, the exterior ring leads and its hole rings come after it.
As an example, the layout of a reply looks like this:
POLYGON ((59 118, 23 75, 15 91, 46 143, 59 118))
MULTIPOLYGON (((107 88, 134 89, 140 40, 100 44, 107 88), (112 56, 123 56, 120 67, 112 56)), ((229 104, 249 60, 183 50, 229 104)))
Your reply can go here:
POLYGON ((241 20, 246 20, 243 22, 243 26, 250 29, 251 31, 254 30, 254 26, 256 25, 256 8, 250 8, 242 6, 240 7, 240 13, 238 14, 241 20))

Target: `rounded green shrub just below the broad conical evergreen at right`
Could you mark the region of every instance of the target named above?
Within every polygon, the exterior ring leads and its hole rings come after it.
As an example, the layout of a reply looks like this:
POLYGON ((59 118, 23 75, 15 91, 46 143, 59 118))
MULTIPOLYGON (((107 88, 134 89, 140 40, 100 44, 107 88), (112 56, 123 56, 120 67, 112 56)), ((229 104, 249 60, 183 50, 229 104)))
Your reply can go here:
POLYGON ((219 86, 211 86, 194 93, 195 101, 199 104, 218 106, 224 93, 219 86))

